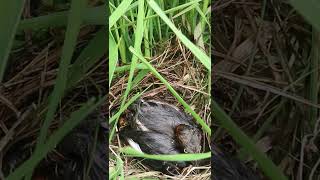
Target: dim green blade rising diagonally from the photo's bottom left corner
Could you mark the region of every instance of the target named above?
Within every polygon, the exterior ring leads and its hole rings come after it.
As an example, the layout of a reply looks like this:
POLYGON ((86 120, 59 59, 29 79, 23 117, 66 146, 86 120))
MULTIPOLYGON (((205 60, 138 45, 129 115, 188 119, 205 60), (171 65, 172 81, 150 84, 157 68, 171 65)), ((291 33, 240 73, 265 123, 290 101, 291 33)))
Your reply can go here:
POLYGON ((106 101, 106 96, 95 102, 94 99, 89 100, 79 110, 73 112, 70 118, 65 121, 61 128, 55 131, 48 139, 47 143, 40 145, 40 150, 32 154, 32 156, 20 165, 13 173, 6 179, 17 180, 21 179, 27 173, 30 173, 37 164, 46 157, 47 153, 53 150, 57 144, 63 139, 68 132, 83 121, 90 113, 92 113, 98 106, 106 101))

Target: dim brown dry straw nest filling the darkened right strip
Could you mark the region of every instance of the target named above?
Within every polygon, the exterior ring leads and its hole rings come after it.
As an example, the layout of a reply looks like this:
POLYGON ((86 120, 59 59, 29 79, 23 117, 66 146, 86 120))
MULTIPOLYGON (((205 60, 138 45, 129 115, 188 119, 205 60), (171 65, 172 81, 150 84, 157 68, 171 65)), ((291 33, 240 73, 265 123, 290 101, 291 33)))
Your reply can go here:
MULTIPOLYGON (((307 178, 319 154, 319 138, 302 143, 316 130, 305 120, 311 26, 286 1, 263 6, 256 0, 221 0, 212 10, 214 99, 290 179, 299 173, 307 178)), ((214 125, 214 141, 238 152, 218 128, 214 125)))

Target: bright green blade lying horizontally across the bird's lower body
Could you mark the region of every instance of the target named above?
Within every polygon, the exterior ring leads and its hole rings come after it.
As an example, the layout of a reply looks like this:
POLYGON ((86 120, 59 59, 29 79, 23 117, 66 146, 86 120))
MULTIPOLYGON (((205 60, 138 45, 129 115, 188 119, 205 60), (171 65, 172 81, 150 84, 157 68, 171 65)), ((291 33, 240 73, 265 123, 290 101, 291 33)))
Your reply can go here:
POLYGON ((124 147, 120 149, 120 152, 131 157, 140 157, 146 159, 154 159, 160 161, 196 161, 201 159, 208 159, 211 157, 211 152, 198 153, 198 154, 168 154, 168 155, 154 155, 144 154, 131 147, 124 147))

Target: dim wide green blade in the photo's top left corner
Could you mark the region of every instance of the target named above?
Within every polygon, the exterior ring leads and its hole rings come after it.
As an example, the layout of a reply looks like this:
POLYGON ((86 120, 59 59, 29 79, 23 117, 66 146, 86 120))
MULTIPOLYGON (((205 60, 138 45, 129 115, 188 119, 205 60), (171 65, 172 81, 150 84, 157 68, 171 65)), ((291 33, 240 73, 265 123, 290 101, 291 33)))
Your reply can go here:
POLYGON ((23 0, 0 2, 0 83, 6 70, 9 53, 20 22, 23 0))

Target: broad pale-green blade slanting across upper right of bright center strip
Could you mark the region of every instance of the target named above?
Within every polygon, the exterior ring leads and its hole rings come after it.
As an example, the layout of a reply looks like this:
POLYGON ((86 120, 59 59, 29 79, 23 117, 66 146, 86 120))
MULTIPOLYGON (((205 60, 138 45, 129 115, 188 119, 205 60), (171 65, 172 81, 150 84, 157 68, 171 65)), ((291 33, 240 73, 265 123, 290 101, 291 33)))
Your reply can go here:
POLYGON ((171 30, 177 35, 181 42, 197 57, 197 59, 211 71, 211 59, 207 56, 199 47, 194 45, 185 35, 182 34, 178 28, 170 21, 166 14, 160 9, 154 0, 148 1, 150 7, 161 17, 161 19, 171 28, 171 30))

